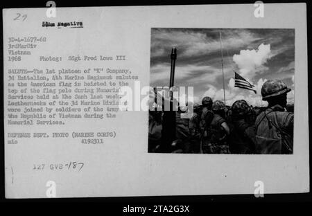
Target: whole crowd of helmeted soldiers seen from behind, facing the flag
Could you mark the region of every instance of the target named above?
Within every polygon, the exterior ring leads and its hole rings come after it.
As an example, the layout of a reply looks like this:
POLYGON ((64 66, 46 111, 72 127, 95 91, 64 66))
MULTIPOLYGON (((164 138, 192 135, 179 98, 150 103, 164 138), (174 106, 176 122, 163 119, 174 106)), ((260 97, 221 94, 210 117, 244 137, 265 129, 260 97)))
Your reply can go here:
MULTIPOLYGON (((170 152, 202 154, 292 154, 293 118, 286 110, 287 93, 281 80, 268 80, 261 89, 268 107, 257 109, 245 100, 232 107, 221 100, 202 98, 191 118, 175 118, 175 140, 170 152)), ((150 111, 148 152, 159 152, 162 143, 162 111, 150 111)))

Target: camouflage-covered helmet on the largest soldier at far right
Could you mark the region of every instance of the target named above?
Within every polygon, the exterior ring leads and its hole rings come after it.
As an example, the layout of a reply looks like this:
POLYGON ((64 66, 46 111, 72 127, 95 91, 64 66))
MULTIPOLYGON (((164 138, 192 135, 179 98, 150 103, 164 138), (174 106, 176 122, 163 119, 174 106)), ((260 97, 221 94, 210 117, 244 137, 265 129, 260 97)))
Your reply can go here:
POLYGON ((264 82, 261 88, 262 100, 268 100, 268 98, 279 96, 289 91, 291 91, 291 89, 281 80, 268 80, 264 82))

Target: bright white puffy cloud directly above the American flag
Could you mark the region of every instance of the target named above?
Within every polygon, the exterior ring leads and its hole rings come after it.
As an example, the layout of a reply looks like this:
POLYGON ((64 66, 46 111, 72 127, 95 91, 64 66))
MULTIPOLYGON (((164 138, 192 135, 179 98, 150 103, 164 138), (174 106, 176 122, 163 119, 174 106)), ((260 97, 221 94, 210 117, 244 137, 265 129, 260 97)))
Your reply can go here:
POLYGON ((239 72, 244 78, 252 78, 255 73, 268 69, 264 64, 271 57, 270 44, 260 44, 257 50, 241 50, 233 56, 233 61, 239 66, 239 72))

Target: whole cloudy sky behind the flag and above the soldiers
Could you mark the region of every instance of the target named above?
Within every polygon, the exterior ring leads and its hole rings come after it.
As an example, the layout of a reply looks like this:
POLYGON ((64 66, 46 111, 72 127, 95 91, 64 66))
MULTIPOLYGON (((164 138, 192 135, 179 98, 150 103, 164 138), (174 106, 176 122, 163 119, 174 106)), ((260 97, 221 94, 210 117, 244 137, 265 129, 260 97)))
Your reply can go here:
MULTIPOLYGON (((227 105, 245 99, 263 106, 261 87, 266 80, 280 79, 294 89, 295 30, 243 28, 152 28, 150 85, 168 86, 171 48, 177 48, 175 86, 194 87, 194 101, 210 96, 223 100, 220 51, 223 44, 223 70, 227 105), (234 71, 256 86, 253 91, 234 88, 234 71)), ((293 103, 294 92, 288 93, 293 103)))

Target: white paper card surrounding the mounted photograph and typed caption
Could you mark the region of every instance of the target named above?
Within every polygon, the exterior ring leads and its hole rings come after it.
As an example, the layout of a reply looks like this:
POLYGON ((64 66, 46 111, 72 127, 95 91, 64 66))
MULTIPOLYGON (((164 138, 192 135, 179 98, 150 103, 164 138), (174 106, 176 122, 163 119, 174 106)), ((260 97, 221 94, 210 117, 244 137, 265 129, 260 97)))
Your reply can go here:
POLYGON ((5 144, 6 197, 46 197, 46 182, 56 182, 57 197, 253 194, 309 191, 306 5, 265 4, 263 18, 253 5, 46 8, 3 10, 4 110, 9 68, 129 68, 149 84, 150 28, 295 28, 295 137, 293 155, 148 154, 148 113, 119 112, 109 120, 67 120, 64 126, 7 126, 8 132, 101 132, 114 129, 104 145, 78 139, 26 139, 5 144), (26 13, 24 22, 12 21, 26 13), (42 21, 83 21, 84 28, 42 28, 42 21), (8 37, 46 36, 47 43, 21 63, 8 63, 8 37), (61 64, 39 62, 39 55, 126 55, 128 61, 61 64), (80 172, 34 171, 34 163, 83 161, 80 172), (14 174, 12 174, 12 170, 14 174), (12 178, 14 179, 12 183, 12 178))

